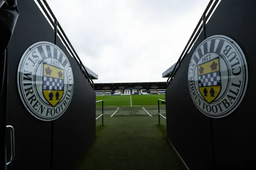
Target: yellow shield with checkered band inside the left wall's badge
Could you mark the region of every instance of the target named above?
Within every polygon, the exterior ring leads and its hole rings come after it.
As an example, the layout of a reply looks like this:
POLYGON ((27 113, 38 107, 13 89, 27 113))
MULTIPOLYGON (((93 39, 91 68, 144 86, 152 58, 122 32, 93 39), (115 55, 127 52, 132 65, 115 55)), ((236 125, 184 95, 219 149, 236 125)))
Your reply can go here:
POLYGON ((64 69, 43 63, 43 95, 53 107, 61 100, 64 92, 64 69))

